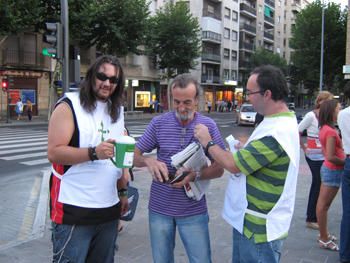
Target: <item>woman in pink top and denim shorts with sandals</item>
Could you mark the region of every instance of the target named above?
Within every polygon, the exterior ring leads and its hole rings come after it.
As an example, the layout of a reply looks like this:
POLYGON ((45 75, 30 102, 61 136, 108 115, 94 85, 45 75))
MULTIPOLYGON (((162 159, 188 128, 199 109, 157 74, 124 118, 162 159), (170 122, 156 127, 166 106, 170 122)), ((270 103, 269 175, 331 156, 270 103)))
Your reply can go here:
POLYGON ((319 114, 319 140, 325 161, 321 167, 322 183, 316 207, 320 229, 318 244, 320 248, 332 251, 339 251, 339 246, 333 242, 338 239, 327 232, 327 212, 338 193, 345 163, 341 139, 334 125, 340 110, 337 100, 325 100, 319 114))

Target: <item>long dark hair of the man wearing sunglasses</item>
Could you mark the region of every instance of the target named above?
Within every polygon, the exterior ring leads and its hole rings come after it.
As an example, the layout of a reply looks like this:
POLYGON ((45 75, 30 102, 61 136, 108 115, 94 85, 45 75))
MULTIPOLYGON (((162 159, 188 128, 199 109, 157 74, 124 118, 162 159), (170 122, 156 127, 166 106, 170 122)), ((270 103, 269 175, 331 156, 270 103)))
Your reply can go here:
POLYGON ((123 92, 125 87, 125 75, 119 60, 112 55, 105 55, 98 57, 94 63, 89 67, 86 77, 80 88, 80 104, 85 111, 92 113, 96 109, 96 98, 93 92, 95 85, 96 74, 103 64, 108 63, 116 68, 119 73, 119 81, 112 95, 109 97, 108 113, 112 122, 116 122, 120 115, 120 106, 123 103, 123 92))

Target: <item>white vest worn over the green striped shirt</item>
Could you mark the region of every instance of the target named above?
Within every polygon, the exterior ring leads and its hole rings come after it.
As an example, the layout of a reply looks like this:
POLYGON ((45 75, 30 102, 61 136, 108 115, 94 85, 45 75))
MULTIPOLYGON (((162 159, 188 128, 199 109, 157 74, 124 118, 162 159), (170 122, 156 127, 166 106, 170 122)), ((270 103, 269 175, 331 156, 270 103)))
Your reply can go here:
POLYGON ((293 217, 300 162, 300 143, 296 118, 284 116, 266 117, 254 130, 246 145, 265 136, 274 137, 290 158, 287 177, 280 199, 267 215, 248 210, 247 176, 243 173, 240 173, 238 177, 231 174, 226 189, 222 217, 241 234, 243 234, 244 216, 246 213, 266 218, 267 241, 270 242, 288 232, 293 217))

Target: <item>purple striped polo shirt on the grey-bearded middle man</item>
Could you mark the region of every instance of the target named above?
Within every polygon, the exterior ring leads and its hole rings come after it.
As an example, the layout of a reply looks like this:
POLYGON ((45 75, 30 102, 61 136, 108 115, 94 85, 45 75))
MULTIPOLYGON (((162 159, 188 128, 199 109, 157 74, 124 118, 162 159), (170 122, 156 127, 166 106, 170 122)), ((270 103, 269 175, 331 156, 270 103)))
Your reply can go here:
MULTIPOLYGON (((198 142, 193 134, 197 124, 208 127, 213 141, 225 149, 219 130, 212 119, 196 112, 194 119, 183 127, 176 117, 175 111, 153 118, 136 147, 148 153, 157 149, 157 159, 167 165, 169 173, 175 173, 170 158, 184 150, 192 142, 198 142)), ((208 157, 212 160, 211 156, 208 157)), ((174 188, 154 180, 151 185, 148 208, 154 213, 177 218, 207 212, 205 196, 196 201, 187 197, 183 187, 174 188)))

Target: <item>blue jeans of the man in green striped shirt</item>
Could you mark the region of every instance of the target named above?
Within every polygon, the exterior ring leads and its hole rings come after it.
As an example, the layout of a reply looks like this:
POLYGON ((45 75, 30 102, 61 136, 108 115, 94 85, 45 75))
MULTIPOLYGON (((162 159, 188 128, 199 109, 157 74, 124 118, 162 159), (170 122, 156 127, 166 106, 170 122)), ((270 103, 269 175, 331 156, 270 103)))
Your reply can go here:
POLYGON ((277 263, 285 239, 255 243, 254 235, 248 239, 233 228, 232 263, 277 263))

